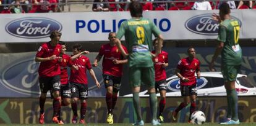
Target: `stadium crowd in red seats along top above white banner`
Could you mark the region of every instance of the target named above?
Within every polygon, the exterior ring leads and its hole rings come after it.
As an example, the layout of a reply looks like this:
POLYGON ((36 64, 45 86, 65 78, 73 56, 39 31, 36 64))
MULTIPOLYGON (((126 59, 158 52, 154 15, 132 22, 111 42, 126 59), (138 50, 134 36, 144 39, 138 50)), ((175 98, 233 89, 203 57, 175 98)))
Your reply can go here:
MULTIPOLYGON (((67 0, 69 1, 69 0, 67 0)), ((92 11, 127 11, 133 0, 94 0, 92 11)), ((212 10, 218 9, 221 1, 139 0, 143 10, 212 10)), ((0 0, 1 14, 61 12, 60 0, 0 0)), ((84 2, 84 1, 83 1, 84 2)), ((66 2, 67 3, 67 2, 66 2)), ((255 1, 228 1, 231 9, 256 9, 255 1)))

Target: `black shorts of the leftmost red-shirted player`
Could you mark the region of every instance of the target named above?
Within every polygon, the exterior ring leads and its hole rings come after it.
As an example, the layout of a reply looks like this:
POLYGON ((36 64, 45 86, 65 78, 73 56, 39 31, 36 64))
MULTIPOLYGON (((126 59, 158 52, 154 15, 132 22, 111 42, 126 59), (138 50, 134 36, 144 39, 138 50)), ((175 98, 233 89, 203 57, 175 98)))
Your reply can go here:
POLYGON ((47 93, 48 90, 56 92, 61 90, 61 77, 39 77, 41 93, 47 93))

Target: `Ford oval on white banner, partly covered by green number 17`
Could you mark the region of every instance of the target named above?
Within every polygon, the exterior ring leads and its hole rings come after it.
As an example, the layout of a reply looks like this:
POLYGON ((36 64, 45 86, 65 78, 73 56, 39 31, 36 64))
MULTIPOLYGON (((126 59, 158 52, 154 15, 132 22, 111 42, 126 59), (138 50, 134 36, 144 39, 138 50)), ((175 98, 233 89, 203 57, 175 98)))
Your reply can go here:
MULTIPOLYGON (((237 20, 239 25, 242 26, 238 18, 232 18, 237 20)), ((203 14, 189 18, 185 23, 185 27, 187 30, 197 34, 218 35, 219 24, 215 20, 212 20, 211 14, 203 14)))

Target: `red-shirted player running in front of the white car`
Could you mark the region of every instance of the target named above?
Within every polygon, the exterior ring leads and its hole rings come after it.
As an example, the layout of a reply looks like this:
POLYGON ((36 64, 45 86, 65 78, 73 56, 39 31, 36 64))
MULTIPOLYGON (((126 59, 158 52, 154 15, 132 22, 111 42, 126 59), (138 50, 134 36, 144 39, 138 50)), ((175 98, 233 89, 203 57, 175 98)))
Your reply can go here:
POLYGON ((197 78, 200 78, 200 61, 195 58, 194 47, 189 47, 187 49, 189 57, 182 58, 176 68, 176 75, 181 79, 181 96, 184 101, 179 104, 179 106, 173 111, 173 120, 176 120, 177 113, 187 104, 190 104, 190 116, 195 111, 195 99, 197 98, 197 79, 195 78, 195 73, 197 78))

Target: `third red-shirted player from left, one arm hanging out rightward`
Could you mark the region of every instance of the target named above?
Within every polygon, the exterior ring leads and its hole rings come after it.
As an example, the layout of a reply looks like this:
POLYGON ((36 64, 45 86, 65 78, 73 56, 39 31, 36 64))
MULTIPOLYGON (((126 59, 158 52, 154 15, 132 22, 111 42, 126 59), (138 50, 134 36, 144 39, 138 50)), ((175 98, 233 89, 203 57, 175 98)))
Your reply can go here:
MULTIPOLYGON (((82 52, 82 45, 75 44, 73 46, 73 55, 80 54, 82 52)), ((80 99, 81 109, 80 109, 80 124, 85 124, 85 112, 87 109, 87 98, 88 98, 88 80, 86 71, 88 69, 92 79, 94 79, 95 84, 100 88, 100 83, 96 79, 95 73, 92 69, 92 65, 88 57, 84 55, 79 55, 77 58, 71 61, 72 65, 78 66, 79 69, 71 69, 69 82, 71 84, 72 92, 72 111, 74 116, 72 118, 72 123, 77 123, 77 101, 80 99)))

